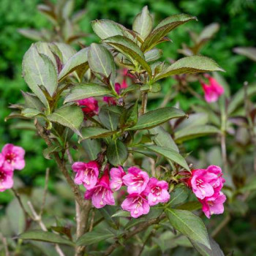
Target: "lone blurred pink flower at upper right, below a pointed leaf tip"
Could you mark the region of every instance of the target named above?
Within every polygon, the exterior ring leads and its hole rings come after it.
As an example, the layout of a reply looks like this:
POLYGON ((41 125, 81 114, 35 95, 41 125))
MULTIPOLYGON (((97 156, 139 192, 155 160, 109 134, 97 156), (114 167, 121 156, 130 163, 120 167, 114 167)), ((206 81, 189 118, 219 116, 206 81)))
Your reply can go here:
POLYGON ((224 89, 214 78, 209 77, 208 80, 209 85, 206 83, 201 83, 206 102, 217 102, 219 97, 224 93, 224 89))

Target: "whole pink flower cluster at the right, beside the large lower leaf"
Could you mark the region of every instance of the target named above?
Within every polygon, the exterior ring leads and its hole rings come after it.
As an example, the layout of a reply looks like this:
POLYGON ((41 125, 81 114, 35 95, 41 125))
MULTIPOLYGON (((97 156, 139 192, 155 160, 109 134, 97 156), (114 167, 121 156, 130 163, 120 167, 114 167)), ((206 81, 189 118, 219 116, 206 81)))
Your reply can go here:
POLYGON ((212 214, 222 214, 224 211, 223 203, 226 197, 221 192, 224 183, 222 169, 218 166, 211 165, 207 169, 192 170, 192 176, 187 184, 202 203, 203 212, 208 218, 212 214))

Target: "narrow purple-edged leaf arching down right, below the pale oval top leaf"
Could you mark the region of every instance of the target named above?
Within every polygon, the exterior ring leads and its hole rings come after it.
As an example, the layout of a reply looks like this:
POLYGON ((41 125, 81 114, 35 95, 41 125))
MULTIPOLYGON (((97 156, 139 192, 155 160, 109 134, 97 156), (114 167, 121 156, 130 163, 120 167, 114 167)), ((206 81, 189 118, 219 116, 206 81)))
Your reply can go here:
POLYGON ((104 42, 106 42, 108 45, 111 45, 120 53, 123 53, 124 56, 127 56, 127 58, 129 58, 130 61, 132 61, 132 63, 134 63, 134 61, 138 61, 138 63, 143 67, 143 69, 146 69, 148 75, 152 75, 151 68, 146 63, 143 52, 140 50, 138 45, 135 44, 135 42, 132 42, 131 39, 122 36, 115 36, 105 39, 104 42))

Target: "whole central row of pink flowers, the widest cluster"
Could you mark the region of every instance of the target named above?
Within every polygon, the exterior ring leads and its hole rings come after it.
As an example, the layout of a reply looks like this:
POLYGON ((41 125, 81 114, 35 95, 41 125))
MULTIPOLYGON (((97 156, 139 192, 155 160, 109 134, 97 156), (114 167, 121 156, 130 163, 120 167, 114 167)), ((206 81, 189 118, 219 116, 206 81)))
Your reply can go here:
POLYGON ((75 171, 75 184, 86 187, 85 199, 91 199, 96 208, 105 205, 113 206, 115 199, 113 192, 122 186, 127 186, 126 199, 121 204, 124 211, 138 218, 148 214, 150 206, 157 203, 166 203, 170 199, 168 184, 157 178, 149 178, 148 173, 138 167, 129 167, 127 173, 122 167, 105 167, 103 175, 99 178, 99 165, 95 161, 75 162, 72 165, 75 171))

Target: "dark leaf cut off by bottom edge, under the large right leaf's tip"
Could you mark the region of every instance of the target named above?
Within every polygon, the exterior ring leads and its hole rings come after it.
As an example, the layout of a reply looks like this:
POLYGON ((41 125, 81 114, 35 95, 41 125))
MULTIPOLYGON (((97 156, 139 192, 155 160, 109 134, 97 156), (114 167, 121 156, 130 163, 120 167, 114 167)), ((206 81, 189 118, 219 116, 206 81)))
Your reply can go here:
POLYGON ((225 254, 222 252, 222 249, 220 249, 219 244, 217 244, 216 241, 214 241, 213 238, 209 237, 211 249, 209 249, 207 246, 197 243, 193 241, 192 239, 189 239, 192 246, 195 247, 197 252, 200 253, 200 255, 203 256, 225 256, 225 254))

